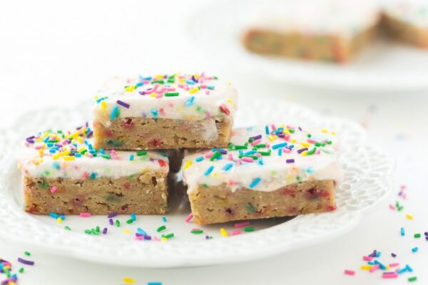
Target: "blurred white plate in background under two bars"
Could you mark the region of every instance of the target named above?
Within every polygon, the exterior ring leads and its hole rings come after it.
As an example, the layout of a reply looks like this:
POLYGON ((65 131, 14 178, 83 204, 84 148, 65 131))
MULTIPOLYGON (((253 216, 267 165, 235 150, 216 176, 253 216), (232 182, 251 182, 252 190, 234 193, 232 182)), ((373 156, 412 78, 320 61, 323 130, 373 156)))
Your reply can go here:
MULTIPOLYGON (((277 0, 275 0, 277 1, 277 0)), ((428 51, 378 38, 350 63, 320 63, 250 53, 240 41, 255 5, 272 0, 215 1, 190 16, 192 42, 216 61, 255 76, 327 90, 397 93, 428 90, 428 51)), ((272 3, 273 2, 273 3, 272 3)), ((256 6, 257 7, 257 6, 256 6)), ((346 94, 343 94, 346 95, 346 94)), ((364 95, 360 94, 360 95, 364 95)))

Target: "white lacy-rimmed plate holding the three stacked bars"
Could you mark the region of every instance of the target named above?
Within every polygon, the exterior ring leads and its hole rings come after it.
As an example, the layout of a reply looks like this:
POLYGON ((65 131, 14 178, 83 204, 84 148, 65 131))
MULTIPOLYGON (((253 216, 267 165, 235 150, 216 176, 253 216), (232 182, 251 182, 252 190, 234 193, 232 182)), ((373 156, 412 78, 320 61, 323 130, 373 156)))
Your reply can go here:
MULTIPOLYGON (((79 106, 84 106, 80 104, 79 106)), ((293 219, 267 219, 252 222, 255 232, 233 237, 222 237, 220 225, 200 227, 204 234, 190 234, 196 227, 185 223, 188 204, 176 190, 170 213, 161 216, 138 216, 134 224, 126 224, 129 216, 118 217, 122 226, 110 226, 106 217, 67 216, 63 224, 51 217, 27 214, 21 202, 20 173, 16 169, 14 153, 19 151, 24 138, 46 128, 71 128, 85 122, 88 108, 46 109, 24 115, 11 130, 0 130, 0 237, 27 247, 46 249, 51 254, 75 257, 88 261, 141 266, 176 267, 202 266, 226 262, 260 259, 307 247, 332 239, 354 227, 360 221, 362 210, 371 207, 391 190, 392 159, 376 147, 367 145, 365 131, 348 120, 325 118, 298 105, 258 102, 240 106, 237 125, 255 125, 270 122, 290 122, 308 127, 336 130, 341 140, 340 162, 345 168, 345 182, 337 189, 337 210, 325 214, 307 214, 293 219), (258 110, 257 116, 253 110, 258 110), (12 131, 13 130, 13 131, 12 131), (165 234, 175 237, 168 242, 136 241, 126 234, 141 227, 148 234, 160 237, 156 229, 165 224, 165 234), (63 229, 65 225, 72 231, 63 229), (101 236, 84 234, 84 229, 108 227, 101 236), (206 240, 205 234, 213 239, 206 240)), ((228 232, 232 223, 222 224, 228 232)))

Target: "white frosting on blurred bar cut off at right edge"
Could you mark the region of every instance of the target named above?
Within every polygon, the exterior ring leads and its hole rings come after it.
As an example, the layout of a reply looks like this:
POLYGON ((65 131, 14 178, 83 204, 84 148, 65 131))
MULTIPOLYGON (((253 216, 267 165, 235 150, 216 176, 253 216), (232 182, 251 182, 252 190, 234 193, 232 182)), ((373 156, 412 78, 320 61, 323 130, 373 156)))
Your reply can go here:
POLYGON ((427 0, 384 1, 384 13, 420 28, 428 28, 427 0))

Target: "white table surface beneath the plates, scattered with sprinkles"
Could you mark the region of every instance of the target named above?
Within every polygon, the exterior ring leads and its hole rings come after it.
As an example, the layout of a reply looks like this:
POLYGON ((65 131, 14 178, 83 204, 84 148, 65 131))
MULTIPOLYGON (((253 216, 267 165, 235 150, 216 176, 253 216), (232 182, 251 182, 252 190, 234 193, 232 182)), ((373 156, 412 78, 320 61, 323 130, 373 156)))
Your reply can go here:
POLYGON ((32 252, 36 266, 26 267, 26 273, 19 275, 20 284, 121 284, 123 276, 132 277, 136 284, 407 284, 407 277, 417 276, 417 284, 428 284, 428 242, 412 237, 414 232, 423 236, 428 231, 428 92, 323 92, 240 74, 228 65, 227 55, 223 61, 213 61, 185 33, 189 17, 198 24, 193 13, 202 1, 59 2, 0 3, 1 127, 27 110, 91 98, 105 78, 117 74, 207 71, 230 78, 241 100, 271 96, 363 123, 370 140, 396 158, 396 186, 348 234, 240 264, 188 269, 113 267, 33 252, 0 240, 0 257, 16 266, 24 251, 32 252), (407 185, 408 197, 400 213, 388 208, 398 199, 399 185, 407 185), (406 219, 406 213, 414 220, 406 219), (400 227, 407 230, 404 238, 400 227), (419 252, 413 254, 415 246, 419 252), (397 253, 397 261, 410 264, 414 272, 384 280, 379 272, 360 270, 362 255, 373 249, 384 254, 385 264, 393 261, 391 252, 397 253), (346 276, 344 269, 355 269, 357 274, 346 276))

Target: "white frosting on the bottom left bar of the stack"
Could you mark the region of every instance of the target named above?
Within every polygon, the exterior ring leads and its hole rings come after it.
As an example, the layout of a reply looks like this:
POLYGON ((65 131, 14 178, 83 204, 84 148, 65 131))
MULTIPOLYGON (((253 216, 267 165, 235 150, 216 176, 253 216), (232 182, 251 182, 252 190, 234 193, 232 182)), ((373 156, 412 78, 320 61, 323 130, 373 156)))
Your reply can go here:
MULTIPOLYGON (((39 138, 44 138, 43 134, 39 138)), ((96 152, 96 157, 88 156, 90 140, 86 141, 88 145, 73 140, 73 148, 71 144, 63 145, 61 150, 54 153, 50 152, 51 147, 43 140, 37 141, 37 138, 34 140, 33 143, 26 142, 26 148, 19 157, 19 168, 24 175, 30 177, 95 179, 96 177, 118 178, 139 175, 150 170, 162 170, 165 174, 168 173, 168 156, 162 152, 143 151, 146 154, 137 155, 136 151, 113 151, 113 153, 103 151, 104 155, 110 155, 111 158, 108 159, 99 151, 96 152), (75 157, 74 160, 65 158, 70 157, 69 155, 59 157, 56 155, 71 149, 85 149, 86 153, 81 157, 75 157), (130 155, 133 155, 133 160, 130 160, 130 155)))

